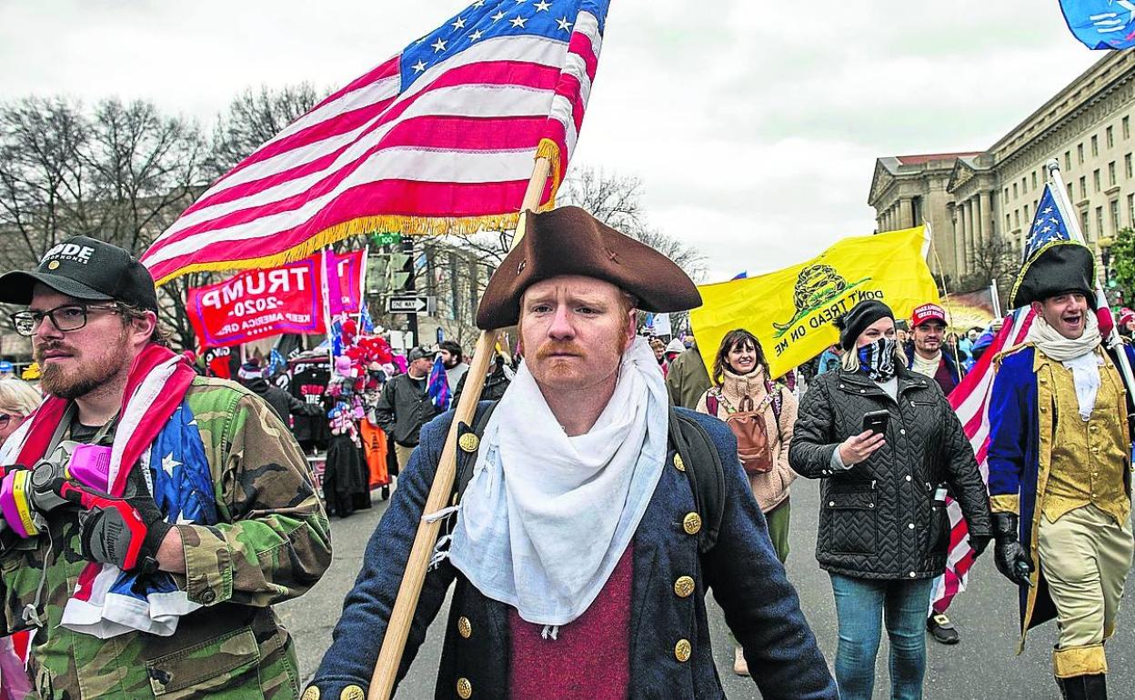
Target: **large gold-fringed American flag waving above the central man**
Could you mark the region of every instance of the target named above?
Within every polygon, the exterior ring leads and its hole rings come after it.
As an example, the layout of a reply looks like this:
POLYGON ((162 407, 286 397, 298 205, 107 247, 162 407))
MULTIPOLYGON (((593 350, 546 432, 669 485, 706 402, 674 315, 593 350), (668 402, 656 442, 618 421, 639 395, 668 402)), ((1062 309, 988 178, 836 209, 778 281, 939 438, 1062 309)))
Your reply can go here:
POLYGON ((568 162, 609 0, 477 0, 220 178, 142 256, 158 284, 271 267, 354 234, 515 226, 533 160, 568 162))

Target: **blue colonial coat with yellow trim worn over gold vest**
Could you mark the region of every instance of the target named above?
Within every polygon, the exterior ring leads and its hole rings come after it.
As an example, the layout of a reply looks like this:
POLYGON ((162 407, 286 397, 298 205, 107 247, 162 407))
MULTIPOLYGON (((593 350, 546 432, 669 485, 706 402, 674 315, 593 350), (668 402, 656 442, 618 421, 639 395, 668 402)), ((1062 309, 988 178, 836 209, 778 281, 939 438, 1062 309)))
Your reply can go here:
MULTIPOLYGON (((1135 353, 1129 346, 1124 348, 1135 365, 1135 353)), ((990 501, 994 513, 1019 514, 1020 543, 1036 565, 1031 577, 1033 585, 1020 587, 1019 653, 1027 631, 1056 617, 1056 606, 1049 594, 1048 581, 1041 573, 1036 553, 1036 533, 1041 525, 1040 506, 1044 503, 1044 487, 1051 467, 1050 437, 1056 429, 1052 424, 1056 397, 1051 379, 1037 377, 1041 363, 1036 348, 1032 345, 1007 351, 999 362, 989 407, 990 501), (1045 436, 1045 439, 1042 440, 1041 436, 1045 436)), ((1110 351, 1105 356, 1105 368, 1118 372, 1110 351)), ((1115 407, 1116 420, 1125 420, 1128 408, 1123 393, 1115 407)), ((1130 496, 1129 470, 1124 471, 1124 486, 1130 496)))

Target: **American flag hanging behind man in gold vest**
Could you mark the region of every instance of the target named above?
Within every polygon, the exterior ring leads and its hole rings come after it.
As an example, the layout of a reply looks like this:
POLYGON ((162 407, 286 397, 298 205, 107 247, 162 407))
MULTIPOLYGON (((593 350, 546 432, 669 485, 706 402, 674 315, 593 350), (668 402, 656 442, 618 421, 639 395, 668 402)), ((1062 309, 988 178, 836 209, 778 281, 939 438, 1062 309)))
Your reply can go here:
MULTIPOLYGON (((1036 216, 1028 230, 1025 242, 1023 261, 1033 258, 1045 245, 1054 241, 1068 241, 1067 208, 1060 204, 1059 195, 1052 185, 1045 185, 1036 205, 1036 216)), ((1000 332, 982 355, 981 360, 961 380, 961 383, 950 393, 950 405, 953 407, 961 425, 965 428, 969 445, 977 456, 977 465, 982 470, 982 479, 989 481, 987 450, 990 444, 989 402, 993 391, 995 366, 993 359, 999 353, 1025 340, 1028 328, 1035 314, 1031 309, 1017 309, 1006 317, 1000 332)), ((951 498, 947 501, 950 515, 950 549, 945 563, 945 574, 935 581, 931 600, 935 610, 942 612, 950 605, 953 597, 966 589, 969 567, 974 563, 974 550, 969 547, 969 531, 961 517, 961 508, 951 498)))

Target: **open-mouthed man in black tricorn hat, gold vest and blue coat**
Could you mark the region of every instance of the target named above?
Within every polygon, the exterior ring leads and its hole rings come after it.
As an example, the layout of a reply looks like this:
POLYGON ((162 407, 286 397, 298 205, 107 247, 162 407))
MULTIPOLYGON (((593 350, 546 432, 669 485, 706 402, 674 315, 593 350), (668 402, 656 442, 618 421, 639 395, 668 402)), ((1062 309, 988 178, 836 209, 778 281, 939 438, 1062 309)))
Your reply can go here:
POLYGON ((1133 540, 1126 394, 1101 344, 1094 277, 1092 252, 1069 241, 1025 262, 1012 306, 1036 315, 1000 357, 989 486, 995 563, 1020 589, 1018 652, 1029 627, 1056 617, 1057 684, 1066 699, 1096 700, 1133 540))

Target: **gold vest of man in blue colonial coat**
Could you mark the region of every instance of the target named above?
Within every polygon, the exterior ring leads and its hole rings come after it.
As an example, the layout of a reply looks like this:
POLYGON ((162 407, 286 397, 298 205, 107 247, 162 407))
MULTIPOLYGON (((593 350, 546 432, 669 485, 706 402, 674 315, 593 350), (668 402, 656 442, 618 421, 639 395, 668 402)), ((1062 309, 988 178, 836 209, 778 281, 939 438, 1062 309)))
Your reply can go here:
MULTIPOLYGON (((1096 349, 1096 353, 1102 351, 1096 349)), ((1040 353, 1040 351, 1037 351, 1040 353)), ((1051 522, 1088 504, 1095 505, 1117 523, 1127 522, 1130 500, 1124 489, 1128 469, 1127 422, 1121 410, 1121 381, 1110 357, 1100 365, 1100 390, 1091 418, 1079 415, 1071 370, 1048 357, 1041 360, 1037 376, 1045 370, 1052 378, 1056 428, 1052 436, 1052 463, 1044 490, 1042 512, 1051 522)))

